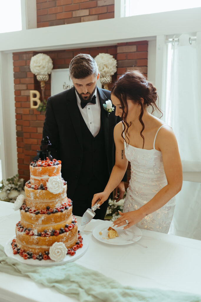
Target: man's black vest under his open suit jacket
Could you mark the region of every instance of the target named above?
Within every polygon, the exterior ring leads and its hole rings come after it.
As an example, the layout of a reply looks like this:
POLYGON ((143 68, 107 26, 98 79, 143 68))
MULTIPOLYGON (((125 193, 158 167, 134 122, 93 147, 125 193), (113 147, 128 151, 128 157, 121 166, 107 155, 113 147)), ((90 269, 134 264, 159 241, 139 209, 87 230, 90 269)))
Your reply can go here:
POLYGON ((80 126, 83 140, 83 162, 80 171, 80 184, 88 184, 90 180, 96 176, 101 183, 105 185, 108 182, 108 167, 107 158, 105 155, 105 142, 102 127, 100 125, 99 133, 93 137, 89 128, 87 127, 82 114, 79 110, 80 126))

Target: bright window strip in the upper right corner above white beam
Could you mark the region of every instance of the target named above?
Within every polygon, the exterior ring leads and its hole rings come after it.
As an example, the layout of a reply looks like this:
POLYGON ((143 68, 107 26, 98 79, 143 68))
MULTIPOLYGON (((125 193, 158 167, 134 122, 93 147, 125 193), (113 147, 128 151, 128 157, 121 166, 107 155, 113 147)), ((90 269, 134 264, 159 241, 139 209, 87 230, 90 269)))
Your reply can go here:
POLYGON ((122 17, 201 7, 201 0, 122 0, 122 17))

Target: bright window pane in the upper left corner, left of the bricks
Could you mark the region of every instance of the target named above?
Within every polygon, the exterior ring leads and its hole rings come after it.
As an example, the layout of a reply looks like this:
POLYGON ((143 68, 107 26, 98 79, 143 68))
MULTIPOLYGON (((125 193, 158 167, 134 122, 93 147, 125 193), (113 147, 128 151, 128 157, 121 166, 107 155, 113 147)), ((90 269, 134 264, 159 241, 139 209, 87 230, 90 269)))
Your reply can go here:
POLYGON ((0 2, 0 33, 21 31, 21 1, 9 0, 0 2))

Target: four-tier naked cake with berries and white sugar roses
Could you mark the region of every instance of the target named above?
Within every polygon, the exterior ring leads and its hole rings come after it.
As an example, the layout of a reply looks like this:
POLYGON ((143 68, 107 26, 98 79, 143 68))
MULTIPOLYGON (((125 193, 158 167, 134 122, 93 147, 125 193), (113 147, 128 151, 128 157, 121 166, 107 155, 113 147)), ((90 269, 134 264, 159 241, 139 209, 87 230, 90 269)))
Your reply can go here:
POLYGON ((11 243, 14 254, 24 259, 61 261, 83 246, 66 192, 60 160, 46 157, 30 163, 25 200, 19 196, 14 206, 20 208, 21 216, 11 243))

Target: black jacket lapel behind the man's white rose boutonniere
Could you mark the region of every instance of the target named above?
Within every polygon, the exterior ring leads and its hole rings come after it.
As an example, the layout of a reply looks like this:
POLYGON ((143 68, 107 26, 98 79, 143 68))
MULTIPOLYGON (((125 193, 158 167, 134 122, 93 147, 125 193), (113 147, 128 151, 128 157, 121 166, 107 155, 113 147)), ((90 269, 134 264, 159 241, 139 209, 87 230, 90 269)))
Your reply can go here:
POLYGON ((101 120, 102 120, 102 126, 104 131, 104 138, 105 138, 105 151, 108 159, 109 118, 108 118, 108 112, 103 108, 103 104, 105 104, 105 101, 108 100, 108 97, 104 94, 102 89, 98 87, 97 87, 97 92, 99 95, 99 101, 101 106, 101 120))

